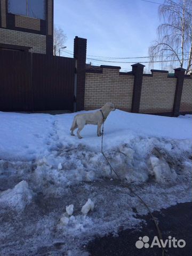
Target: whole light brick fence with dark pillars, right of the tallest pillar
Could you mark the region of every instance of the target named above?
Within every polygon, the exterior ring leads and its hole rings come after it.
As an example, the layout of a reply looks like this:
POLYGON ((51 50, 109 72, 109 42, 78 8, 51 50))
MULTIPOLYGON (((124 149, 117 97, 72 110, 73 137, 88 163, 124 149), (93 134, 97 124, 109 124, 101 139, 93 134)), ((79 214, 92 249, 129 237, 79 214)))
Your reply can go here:
POLYGON ((84 109, 100 108, 113 102, 118 109, 133 113, 178 116, 192 114, 192 77, 185 69, 151 70, 132 65, 132 71, 121 73, 121 67, 86 67, 84 109))

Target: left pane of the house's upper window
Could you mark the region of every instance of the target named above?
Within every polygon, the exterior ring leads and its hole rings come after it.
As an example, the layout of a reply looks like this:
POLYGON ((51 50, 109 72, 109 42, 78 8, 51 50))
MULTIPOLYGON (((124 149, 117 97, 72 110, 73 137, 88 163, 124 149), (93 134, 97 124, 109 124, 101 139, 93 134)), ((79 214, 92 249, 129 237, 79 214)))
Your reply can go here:
POLYGON ((9 0, 8 12, 13 14, 27 15, 27 1, 26 0, 9 0))

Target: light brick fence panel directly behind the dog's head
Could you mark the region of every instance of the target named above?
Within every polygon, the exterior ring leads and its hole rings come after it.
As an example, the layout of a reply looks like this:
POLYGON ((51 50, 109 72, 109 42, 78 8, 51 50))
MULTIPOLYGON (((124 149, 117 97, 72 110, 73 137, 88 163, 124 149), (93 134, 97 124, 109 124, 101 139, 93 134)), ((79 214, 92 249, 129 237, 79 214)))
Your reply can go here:
POLYGON ((103 66, 101 73, 87 72, 85 79, 85 110, 113 102, 116 108, 131 111, 134 76, 119 73, 119 67, 103 66))

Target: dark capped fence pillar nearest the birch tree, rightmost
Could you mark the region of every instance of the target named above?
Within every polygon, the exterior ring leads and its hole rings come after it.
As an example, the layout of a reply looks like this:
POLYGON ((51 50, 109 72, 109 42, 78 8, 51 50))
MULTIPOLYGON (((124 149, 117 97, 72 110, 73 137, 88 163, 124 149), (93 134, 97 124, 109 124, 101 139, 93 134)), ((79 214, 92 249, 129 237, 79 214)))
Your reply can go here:
POLYGON ((173 116, 179 116, 179 109, 181 103, 181 94, 182 94, 182 87, 183 81, 185 76, 186 69, 184 68, 175 68, 174 75, 177 77, 177 85, 175 89, 175 97, 173 103, 173 116))

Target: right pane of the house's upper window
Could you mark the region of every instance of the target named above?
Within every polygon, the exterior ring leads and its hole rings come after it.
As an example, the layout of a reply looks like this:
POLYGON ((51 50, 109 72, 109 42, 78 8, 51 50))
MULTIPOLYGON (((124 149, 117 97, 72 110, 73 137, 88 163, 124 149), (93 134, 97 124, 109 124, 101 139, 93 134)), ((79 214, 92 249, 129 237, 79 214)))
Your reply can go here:
POLYGON ((28 16, 45 20, 45 1, 28 0, 28 16))

